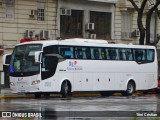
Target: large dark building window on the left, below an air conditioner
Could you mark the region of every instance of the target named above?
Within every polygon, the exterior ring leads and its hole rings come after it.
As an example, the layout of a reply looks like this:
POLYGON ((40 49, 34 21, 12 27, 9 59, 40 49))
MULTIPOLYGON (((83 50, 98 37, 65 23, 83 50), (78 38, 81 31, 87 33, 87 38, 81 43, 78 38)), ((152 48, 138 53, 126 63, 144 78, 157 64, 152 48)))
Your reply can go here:
POLYGON ((83 37, 83 11, 71 10, 71 14, 61 13, 60 32, 62 38, 83 37))

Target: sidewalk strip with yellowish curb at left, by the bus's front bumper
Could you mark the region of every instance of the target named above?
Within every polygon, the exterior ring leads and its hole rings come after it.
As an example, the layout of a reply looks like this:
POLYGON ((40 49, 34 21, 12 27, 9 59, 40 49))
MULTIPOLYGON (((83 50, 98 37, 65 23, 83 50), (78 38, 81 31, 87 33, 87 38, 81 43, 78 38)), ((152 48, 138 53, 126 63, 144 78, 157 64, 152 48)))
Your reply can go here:
POLYGON ((0 99, 2 98, 28 98, 25 94, 15 94, 11 92, 10 88, 0 88, 0 99))

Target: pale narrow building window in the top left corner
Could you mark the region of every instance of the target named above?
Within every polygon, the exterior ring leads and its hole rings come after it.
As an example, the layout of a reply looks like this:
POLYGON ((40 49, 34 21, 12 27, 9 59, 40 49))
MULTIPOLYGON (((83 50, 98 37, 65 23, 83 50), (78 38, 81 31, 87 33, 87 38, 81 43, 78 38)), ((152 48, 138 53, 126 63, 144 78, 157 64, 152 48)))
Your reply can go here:
POLYGON ((14 0, 6 0, 6 18, 13 19, 14 18, 14 0))

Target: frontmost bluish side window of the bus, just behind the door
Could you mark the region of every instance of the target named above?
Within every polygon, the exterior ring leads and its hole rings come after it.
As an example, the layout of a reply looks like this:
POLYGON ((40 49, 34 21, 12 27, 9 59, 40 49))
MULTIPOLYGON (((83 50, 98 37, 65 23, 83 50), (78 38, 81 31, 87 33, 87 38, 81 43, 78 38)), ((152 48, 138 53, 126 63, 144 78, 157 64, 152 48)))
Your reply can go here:
POLYGON ((59 48, 59 54, 62 55, 66 59, 74 58, 73 55, 73 47, 63 47, 59 48))

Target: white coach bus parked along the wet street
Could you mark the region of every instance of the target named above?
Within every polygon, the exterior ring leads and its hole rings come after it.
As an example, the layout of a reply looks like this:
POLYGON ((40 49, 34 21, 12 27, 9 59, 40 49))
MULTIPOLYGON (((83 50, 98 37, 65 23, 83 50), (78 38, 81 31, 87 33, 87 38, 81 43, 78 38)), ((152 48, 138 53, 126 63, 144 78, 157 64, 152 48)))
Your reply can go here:
POLYGON ((103 40, 66 39, 16 45, 9 65, 14 93, 61 93, 99 91, 132 95, 157 87, 157 54, 153 46, 108 44, 103 40))

